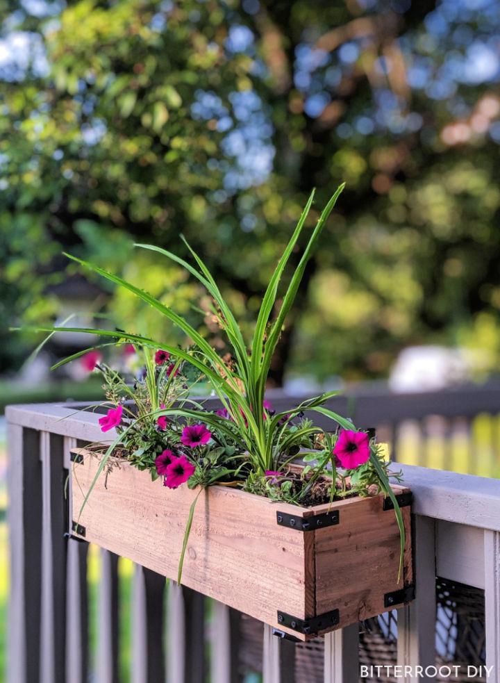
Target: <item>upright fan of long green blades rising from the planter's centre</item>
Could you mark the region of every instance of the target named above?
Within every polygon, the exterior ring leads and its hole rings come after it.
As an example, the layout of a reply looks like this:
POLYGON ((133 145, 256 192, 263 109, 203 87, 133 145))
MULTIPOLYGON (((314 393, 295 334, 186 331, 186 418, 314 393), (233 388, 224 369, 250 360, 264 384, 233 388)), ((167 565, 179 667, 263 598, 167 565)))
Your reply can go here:
MULTIPOLYGON (((165 304, 156 299, 156 297, 153 297, 122 277, 108 272, 103 268, 99 268, 92 263, 83 261, 81 258, 72 256, 71 254, 65 254, 65 256, 72 259, 72 261, 76 261, 76 263, 80 263, 84 268, 88 268, 109 281, 122 286, 138 297, 138 299, 141 299, 152 308, 155 308, 159 315, 165 316, 169 322, 176 325, 176 327, 181 329, 183 333, 192 340, 195 352, 166 345, 162 340, 155 340, 140 334, 128 334, 122 331, 117 332, 106 329, 82 329, 73 327, 47 327, 43 330, 49 333, 53 333, 54 331, 86 332, 88 334, 97 334, 105 338, 115 338, 115 340, 120 340, 122 342, 130 341, 134 344, 148 347, 161 347, 172 353, 178 359, 188 361, 194 365, 194 367, 201 370, 201 372, 206 375, 208 381, 210 381, 210 384, 213 386, 213 389, 221 400, 224 408, 226 408, 231 419, 238 427, 238 434, 249 455, 249 459, 251 459, 252 469, 257 473, 263 474, 265 470, 269 470, 276 465, 276 458, 278 456, 277 449, 279 449, 281 443, 280 435, 283 434, 283 423, 287 422, 291 415, 297 415, 297 413, 300 413, 304 409, 307 409, 308 411, 318 411, 324 415, 328 415, 333 422, 336 422, 345 429, 353 429, 350 420, 342 418, 333 411, 328 411, 328 409, 323 406, 328 398, 332 397, 335 392, 325 393, 308 401, 307 405, 297 406, 297 409, 294 411, 273 415, 272 419, 269 419, 269 414, 264 407, 267 376, 269 374, 269 368, 276 345, 278 344, 283 329, 283 324, 285 324, 285 318, 288 315, 290 308, 292 308, 304 270, 306 269, 306 264, 317 245, 326 221, 343 189, 344 183, 339 186, 324 207, 317 224, 308 237, 305 247, 303 247, 299 265, 297 265, 297 268, 292 274, 288 288, 286 288, 285 293, 281 295, 281 308, 274 313, 281 277, 288 264, 290 255, 294 251, 301 233, 303 232, 306 219, 313 204, 315 192, 314 190, 311 192, 306 206, 301 213, 297 227, 295 227, 290 241, 269 280, 263 297, 262 306, 260 306, 260 311, 258 313, 256 326, 253 330, 253 336, 250 340, 244 339, 242 330, 240 329, 240 325, 238 324, 233 311, 231 311, 231 308, 222 296, 215 279, 210 274, 203 259, 194 251, 194 249, 192 249, 192 247, 190 247, 184 238, 183 241, 192 256, 192 263, 185 261, 185 259, 180 256, 167 251, 167 249, 162 249, 161 247, 142 244, 135 245, 141 249, 149 249, 158 254, 162 254, 166 258, 169 258, 170 261, 174 261, 174 263, 181 265, 195 277, 204 288, 206 288, 213 300, 213 315, 217 318, 219 327, 224 334, 226 334, 228 343, 231 345, 233 363, 224 363, 208 340, 199 334, 197 329, 192 327, 192 325, 181 315, 178 315, 172 311, 171 308, 165 306, 165 304)), ((189 416, 192 418, 196 413, 197 409, 186 410, 187 417, 189 416)), ((206 421, 206 412, 200 409, 199 417, 206 421)), ((211 422, 217 423, 217 426, 223 430, 226 428, 225 418, 213 415, 211 417, 211 422)))

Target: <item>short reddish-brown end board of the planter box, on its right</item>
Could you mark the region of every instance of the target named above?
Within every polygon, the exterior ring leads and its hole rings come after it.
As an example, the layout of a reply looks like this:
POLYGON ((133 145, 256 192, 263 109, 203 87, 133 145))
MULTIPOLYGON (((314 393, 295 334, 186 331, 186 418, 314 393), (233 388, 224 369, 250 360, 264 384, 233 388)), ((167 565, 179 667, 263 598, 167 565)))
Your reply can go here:
POLYGON ((340 509, 335 534, 316 536, 316 611, 340 611, 340 627, 386 611, 385 593, 412 583, 410 507, 401 508, 406 529, 403 575, 398 583, 399 527, 383 498, 360 498, 340 509))

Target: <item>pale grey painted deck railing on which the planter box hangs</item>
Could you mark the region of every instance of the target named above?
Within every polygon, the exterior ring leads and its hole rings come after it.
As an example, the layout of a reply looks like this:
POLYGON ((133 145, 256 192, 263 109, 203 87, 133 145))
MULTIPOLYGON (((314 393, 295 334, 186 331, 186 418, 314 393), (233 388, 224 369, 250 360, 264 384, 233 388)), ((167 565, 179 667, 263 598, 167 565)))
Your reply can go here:
MULTIPOLYGON (((88 545, 68 536, 69 450, 101 441, 98 415, 67 405, 10 406, 8 419, 11 588, 9 683, 84 683, 89 680, 88 545)), ((372 425, 363 425, 372 426, 372 425)), ((112 436, 113 438, 113 436, 112 436)), ((485 595, 485 665, 500 683, 500 481, 404 466, 415 502, 415 602, 398 613, 398 673, 405 683, 433 666, 436 577, 476 586, 485 595)), ((119 680, 117 557, 100 551, 97 655, 92 680, 119 680)), ((235 683, 239 614, 189 589, 135 567, 131 681, 235 683), (210 666, 206 666, 206 643, 210 666)), ((355 683, 355 625, 324 638, 324 682, 355 683)), ((294 648, 264 628, 263 680, 294 681, 294 648)), ((473 679, 474 680, 474 679, 473 679)), ((477 679, 479 680, 479 679, 477 679)))

